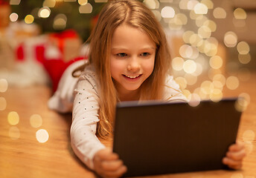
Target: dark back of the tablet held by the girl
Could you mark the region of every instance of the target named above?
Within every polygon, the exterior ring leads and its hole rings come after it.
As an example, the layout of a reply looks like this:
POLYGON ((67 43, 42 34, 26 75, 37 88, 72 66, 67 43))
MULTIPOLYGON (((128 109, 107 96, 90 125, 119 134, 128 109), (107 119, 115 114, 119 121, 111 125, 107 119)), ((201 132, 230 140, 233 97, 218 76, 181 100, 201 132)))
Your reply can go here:
POLYGON ((117 105, 113 151, 127 165, 125 177, 226 168, 240 112, 236 99, 187 103, 123 102, 117 105))

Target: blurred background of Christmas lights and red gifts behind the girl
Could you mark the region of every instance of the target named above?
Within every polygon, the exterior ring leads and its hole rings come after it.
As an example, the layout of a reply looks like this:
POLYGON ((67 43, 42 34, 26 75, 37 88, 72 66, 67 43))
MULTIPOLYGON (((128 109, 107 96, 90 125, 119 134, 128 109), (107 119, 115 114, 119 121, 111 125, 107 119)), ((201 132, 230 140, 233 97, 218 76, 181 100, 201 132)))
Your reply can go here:
MULTIPOLYGON (((86 59, 86 39, 107 0, 0 0, 0 79, 56 90, 86 59)), ((255 0, 144 0, 167 34, 171 73, 188 98, 223 98, 256 70, 255 0)), ((6 82, 3 82, 6 81, 6 82)), ((1 84, 4 85, 4 84, 1 84)))

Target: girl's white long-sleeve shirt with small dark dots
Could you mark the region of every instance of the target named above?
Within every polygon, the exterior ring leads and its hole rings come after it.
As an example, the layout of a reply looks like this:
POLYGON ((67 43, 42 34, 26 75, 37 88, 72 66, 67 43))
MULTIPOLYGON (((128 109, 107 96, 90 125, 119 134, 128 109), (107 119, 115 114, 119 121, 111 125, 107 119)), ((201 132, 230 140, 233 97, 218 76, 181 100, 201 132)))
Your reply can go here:
MULTIPOLYGON (((96 127, 99 110, 98 82, 95 70, 92 65, 86 67, 80 78, 71 76, 71 71, 76 65, 68 68, 63 74, 65 79, 60 80, 59 88, 54 96, 49 100, 49 108, 60 112, 71 111, 73 105, 71 124, 71 147, 79 159, 89 168, 94 169, 93 157, 105 148, 97 139, 96 127), (68 73, 70 75, 68 75, 68 73), (71 91, 74 90, 74 95, 71 91), (67 98, 68 97, 68 98, 67 98), (74 102, 72 103, 71 101, 74 102)), ((173 76, 168 75, 164 87, 164 101, 182 101, 186 98, 179 90, 179 85, 173 80, 173 76)))

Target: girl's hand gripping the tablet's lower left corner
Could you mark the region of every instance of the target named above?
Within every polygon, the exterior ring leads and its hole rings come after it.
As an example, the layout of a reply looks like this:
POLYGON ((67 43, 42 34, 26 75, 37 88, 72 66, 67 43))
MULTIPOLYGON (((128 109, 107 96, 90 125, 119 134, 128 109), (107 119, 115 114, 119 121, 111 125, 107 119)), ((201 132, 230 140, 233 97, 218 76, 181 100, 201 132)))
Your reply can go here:
POLYGON ((101 177, 121 177, 127 171, 127 167, 119 159, 118 154, 113 153, 109 148, 97 151, 93 163, 95 171, 101 177))

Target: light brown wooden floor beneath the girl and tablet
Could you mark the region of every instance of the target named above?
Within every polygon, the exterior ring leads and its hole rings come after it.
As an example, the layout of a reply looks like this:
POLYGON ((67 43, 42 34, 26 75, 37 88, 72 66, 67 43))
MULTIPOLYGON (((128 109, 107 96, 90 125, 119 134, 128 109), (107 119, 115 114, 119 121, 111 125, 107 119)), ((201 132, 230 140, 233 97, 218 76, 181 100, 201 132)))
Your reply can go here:
MULTIPOLYGON (((256 73, 249 81, 241 83, 237 90, 224 90, 224 96, 237 96, 240 93, 248 93, 251 99, 242 115, 238 132, 238 139, 246 142, 248 153, 241 171, 201 171, 154 178, 256 177, 256 73)), ((1 178, 96 177, 71 150, 71 114, 62 115, 48 110, 46 103, 50 96, 51 89, 46 86, 9 87, 7 91, 0 92, 1 178), (2 101, 6 101, 6 108, 1 106, 4 105, 2 101), (39 135, 37 139, 36 133, 39 135)))

